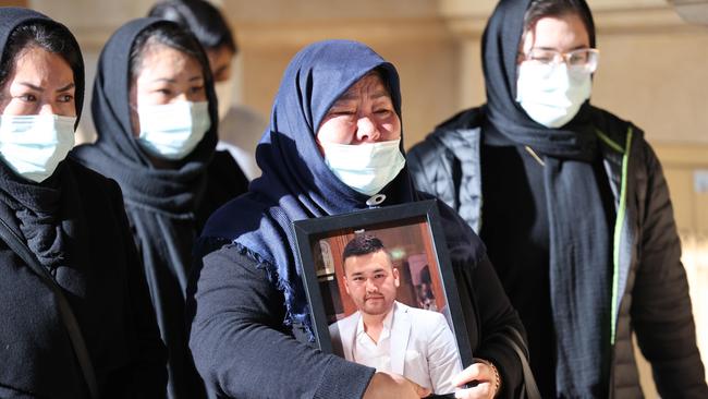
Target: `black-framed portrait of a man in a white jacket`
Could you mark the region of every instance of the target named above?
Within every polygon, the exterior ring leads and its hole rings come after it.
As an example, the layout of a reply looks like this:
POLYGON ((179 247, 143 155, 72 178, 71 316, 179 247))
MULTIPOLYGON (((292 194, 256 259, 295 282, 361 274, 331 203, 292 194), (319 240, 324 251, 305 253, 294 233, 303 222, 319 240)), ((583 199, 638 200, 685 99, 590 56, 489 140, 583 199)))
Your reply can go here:
POLYGON ((436 395, 472 349, 435 200, 293 222, 316 344, 436 395))

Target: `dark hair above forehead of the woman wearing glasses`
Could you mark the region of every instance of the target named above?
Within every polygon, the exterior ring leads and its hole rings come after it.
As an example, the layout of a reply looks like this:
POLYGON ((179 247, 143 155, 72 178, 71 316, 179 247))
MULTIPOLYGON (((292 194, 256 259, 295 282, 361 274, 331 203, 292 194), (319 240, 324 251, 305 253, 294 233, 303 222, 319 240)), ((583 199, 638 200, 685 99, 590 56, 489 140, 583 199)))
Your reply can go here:
POLYGON ((590 47, 595 47, 595 22, 593 22, 593 14, 583 0, 534 0, 528 4, 526 14, 524 14, 524 33, 525 36, 528 32, 536 27, 536 23, 542 17, 547 16, 564 16, 567 14, 577 15, 587 29, 587 35, 590 38, 590 47))

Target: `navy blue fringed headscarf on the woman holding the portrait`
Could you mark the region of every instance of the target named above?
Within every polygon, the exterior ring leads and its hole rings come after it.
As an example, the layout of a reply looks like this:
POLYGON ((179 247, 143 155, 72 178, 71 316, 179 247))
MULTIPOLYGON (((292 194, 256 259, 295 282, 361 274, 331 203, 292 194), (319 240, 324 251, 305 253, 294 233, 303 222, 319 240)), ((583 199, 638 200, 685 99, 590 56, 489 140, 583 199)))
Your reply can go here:
MULTIPOLYGON (((263 176, 249 192, 219 209, 203 237, 224 238, 263 264, 283 291, 285 324, 309 327, 302 265, 294 256, 294 220, 367 208, 368 195, 340 181, 327 167, 316 144, 316 132, 332 104, 364 75, 382 71, 395 112, 401 116, 395 68, 363 44, 327 40, 301 50, 290 62, 272 107, 270 126, 256 152, 263 176)), ((403 152, 403 145, 401 145, 403 152)), ((381 206, 417 201, 407 168, 380 192, 381 206)), ((448 245, 460 263, 475 265, 484 253, 479 240, 459 217, 443 207, 448 245)), ((454 262, 454 261, 453 261, 454 262)))

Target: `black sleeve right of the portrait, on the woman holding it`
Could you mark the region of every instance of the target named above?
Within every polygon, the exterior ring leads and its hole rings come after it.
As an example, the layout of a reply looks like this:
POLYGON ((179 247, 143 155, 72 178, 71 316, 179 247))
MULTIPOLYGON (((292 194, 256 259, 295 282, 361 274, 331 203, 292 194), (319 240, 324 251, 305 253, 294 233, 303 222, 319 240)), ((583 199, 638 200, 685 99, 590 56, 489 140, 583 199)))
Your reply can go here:
MULTIPOLYGON (((474 288, 479 319, 480 337, 475 356, 492 362, 499 370, 502 389, 498 398, 518 397, 523 383, 521 361, 501 336, 516 341, 516 337, 509 330, 509 327, 513 327, 525 339, 524 326, 487 256, 477 264, 468 278, 474 288)), ((527 346, 526 342, 521 344, 527 346)))

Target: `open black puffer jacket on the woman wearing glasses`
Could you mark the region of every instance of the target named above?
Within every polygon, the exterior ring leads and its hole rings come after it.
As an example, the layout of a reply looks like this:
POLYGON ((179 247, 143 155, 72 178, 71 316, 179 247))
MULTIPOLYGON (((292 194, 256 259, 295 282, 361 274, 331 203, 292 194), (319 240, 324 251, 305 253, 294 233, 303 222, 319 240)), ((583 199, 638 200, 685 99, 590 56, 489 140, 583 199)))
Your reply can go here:
MULTIPOLYGON (((662 397, 706 398, 681 243, 661 165, 631 123, 596 108, 593 120, 619 216, 615 237, 608 238, 617 246, 610 392, 642 397, 632 346, 636 332, 662 397)), ((477 232, 483 222, 483 124, 479 109, 461 112, 407 155, 417 189, 452 206, 477 232)))

